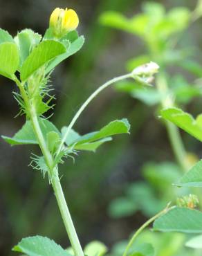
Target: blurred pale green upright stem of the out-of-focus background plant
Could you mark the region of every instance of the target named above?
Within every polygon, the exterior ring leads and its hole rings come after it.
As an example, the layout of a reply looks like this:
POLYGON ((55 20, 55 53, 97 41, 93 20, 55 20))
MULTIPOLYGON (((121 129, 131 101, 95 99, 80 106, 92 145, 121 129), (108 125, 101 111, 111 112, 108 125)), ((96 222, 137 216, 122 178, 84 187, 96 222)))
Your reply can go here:
MULTIPOLYGON (((172 97, 171 95, 169 95, 169 93, 167 93, 168 86, 165 74, 161 73, 157 75, 156 87, 161 94, 161 106, 163 108, 174 107, 172 97)), ((182 170, 184 172, 187 172, 190 166, 187 164, 186 161, 186 151, 179 130, 175 125, 167 120, 165 120, 165 126, 167 129, 170 143, 172 145, 174 156, 176 157, 176 161, 178 161, 178 164, 181 166, 182 170)))

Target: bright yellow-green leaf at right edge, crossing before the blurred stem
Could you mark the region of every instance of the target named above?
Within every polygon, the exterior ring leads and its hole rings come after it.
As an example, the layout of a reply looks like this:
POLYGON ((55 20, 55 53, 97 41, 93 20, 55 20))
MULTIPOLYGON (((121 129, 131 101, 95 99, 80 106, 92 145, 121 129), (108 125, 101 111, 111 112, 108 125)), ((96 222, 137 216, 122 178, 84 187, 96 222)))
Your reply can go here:
POLYGON ((202 115, 194 119, 189 113, 181 109, 168 108, 160 111, 161 117, 173 122, 175 125, 187 131, 198 140, 202 141, 202 115))

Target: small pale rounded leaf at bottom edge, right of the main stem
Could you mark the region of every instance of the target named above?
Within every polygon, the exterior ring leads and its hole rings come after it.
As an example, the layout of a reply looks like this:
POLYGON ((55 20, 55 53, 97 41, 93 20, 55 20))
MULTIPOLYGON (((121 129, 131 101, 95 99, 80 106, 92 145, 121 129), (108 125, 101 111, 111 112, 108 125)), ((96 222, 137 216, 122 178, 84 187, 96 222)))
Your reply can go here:
POLYGON ((107 246, 100 241, 91 241, 91 243, 87 244, 84 248, 84 253, 89 256, 103 256, 107 253, 107 246))

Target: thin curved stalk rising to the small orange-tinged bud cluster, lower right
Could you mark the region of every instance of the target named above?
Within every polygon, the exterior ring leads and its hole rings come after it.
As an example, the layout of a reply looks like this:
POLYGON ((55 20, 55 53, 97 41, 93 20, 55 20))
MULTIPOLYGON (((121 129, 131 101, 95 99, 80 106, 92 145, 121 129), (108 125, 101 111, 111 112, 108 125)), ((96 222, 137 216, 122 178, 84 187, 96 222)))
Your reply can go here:
POLYGON ((135 232, 135 234, 131 237, 131 239, 129 241, 129 244, 127 244, 127 247, 125 248, 125 252, 123 253, 122 256, 127 256, 128 255, 131 246, 133 246, 134 241, 136 240, 136 237, 138 237, 138 235, 140 235, 140 232, 142 232, 145 228, 147 228, 147 226, 149 226, 150 223, 155 221, 155 219, 157 219, 161 215, 165 214, 167 211, 171 210, 172 208, 174 208, 174 206, 169 208, 169 204, 168 204, 165 209, 163 209, 161 212, 158 212, 156 215, 154 215, 154 217, 152 217, 151 219, 146 221, 143 224, 143 226, 140 226, 140 228, 138 228, 138 230, 135 232))

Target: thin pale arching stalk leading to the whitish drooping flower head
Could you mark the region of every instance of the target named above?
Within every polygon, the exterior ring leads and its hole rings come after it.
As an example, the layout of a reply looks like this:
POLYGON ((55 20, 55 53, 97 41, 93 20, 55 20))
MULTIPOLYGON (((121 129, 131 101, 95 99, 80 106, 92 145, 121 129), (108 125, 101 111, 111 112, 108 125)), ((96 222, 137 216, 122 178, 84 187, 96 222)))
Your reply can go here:
POLYGON ((70 124, 68 125, 67 129, 66 129, 66 132, 62 138, 62 141, 57 149, 57 154, 59 154, 59 152, 61 152, 61 149, 65 143, 65 140, 68 136, 68 133, 71 131, 73 125, 75 124, 75 122, 77 121, 77 119, 80 117, 80 114, 82 113, 82 111, 84 111, 84 109, 88 106, 88 104, 102 91, 104 90, 105 88, 107 88, 109 85, 111 84, 114 84, 116 82, 119 82, 121 80, 125 80, 127 78, 130 78, 130 77, 133 77, 134 76, 129 73, 127 75, 120 75, 118 77, 114 77, 113 79, 109 80, 108 82, 102 84, 97 90, 95 90, 91 95, 90 97, 84 102, 84 104, 82 104, 82 107, 80 107, 80 109, 77 111, 77 113, 75 114, 75 116, 73 117, 73 119, 71 120, 70 124))

